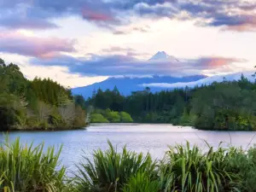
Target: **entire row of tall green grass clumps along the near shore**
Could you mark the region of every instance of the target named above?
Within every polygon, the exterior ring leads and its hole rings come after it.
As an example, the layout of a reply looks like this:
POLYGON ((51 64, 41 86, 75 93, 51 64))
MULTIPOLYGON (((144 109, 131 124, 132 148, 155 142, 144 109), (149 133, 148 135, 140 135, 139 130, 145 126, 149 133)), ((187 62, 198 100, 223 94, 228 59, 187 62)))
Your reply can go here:
POLYGON ((73 177, 59 166, 61 148, 44 150, 20 139, 0 145, 0 191, 4 192, 256 192, 256 148, 217 150, 175 145, 163 160, 150 154, 108 150, 82 157, 73 177))

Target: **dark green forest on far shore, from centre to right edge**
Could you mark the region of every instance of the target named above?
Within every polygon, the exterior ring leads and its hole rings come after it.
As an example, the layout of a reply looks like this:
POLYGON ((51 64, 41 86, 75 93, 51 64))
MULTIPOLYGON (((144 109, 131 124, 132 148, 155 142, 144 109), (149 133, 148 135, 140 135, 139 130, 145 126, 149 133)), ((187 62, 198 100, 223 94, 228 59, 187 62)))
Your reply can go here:
POLYGON ((256 130, 256 84, 241 76, 195 89, 151 93, 149 88, 122 96, 97 90, 87 107, 126 112, 135 122, 192 125, 204 130, 256 130))

